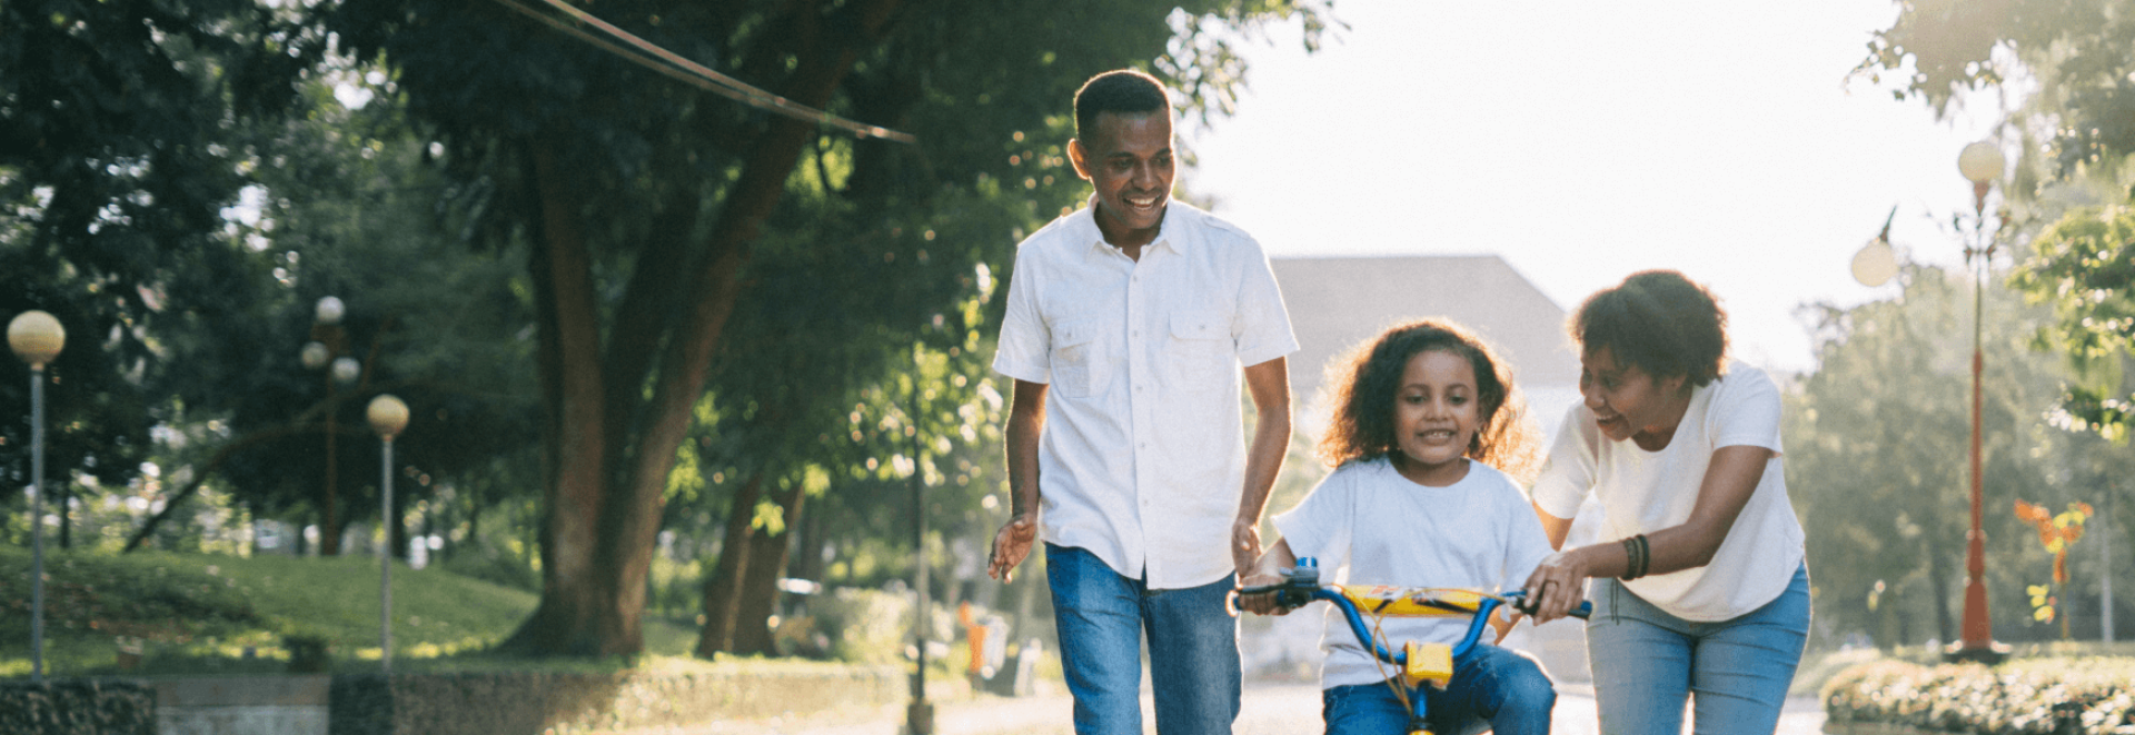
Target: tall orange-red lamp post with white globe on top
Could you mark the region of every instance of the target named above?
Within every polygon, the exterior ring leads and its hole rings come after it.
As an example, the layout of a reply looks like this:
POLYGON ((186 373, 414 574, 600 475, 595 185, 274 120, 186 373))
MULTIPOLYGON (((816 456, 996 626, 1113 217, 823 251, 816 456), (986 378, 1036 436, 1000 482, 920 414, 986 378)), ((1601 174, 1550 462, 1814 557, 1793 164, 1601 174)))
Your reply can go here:
MULTIPOLYGON (((1977 141, 1964 145, 1958 154, 1958 171, 1973 182, 1973 218, 1975 231, 1986 233, 1986 205, 1988 190, 2003 175, 2003 152, 1990 141, 1977 141)), ((1977 662, 1998 662, 2007 656, 2007 645, 1994 643, 1994 622, 1988 617, 1988 553, 1986 553, 1986 530, 1979 526, 1981 515, 1981 455, 1979 455, 1979 415, 1986 408, 1981 391, 1981 372, 1986 368, 1986 357, 1981 355, 1981 316, 1988 288, 1988 267, 1994 256, 1994 235, 1979 237, 1983 244, 1964 248, 1964 265, 1973 269, 1973 444, 1971 444, 1971 479, 1973 479, 1973 528, 1964 534, 1964 626, 1960 628, 1962 641, 1945 652, 1951 660, 1977 660, 1977 662)))

